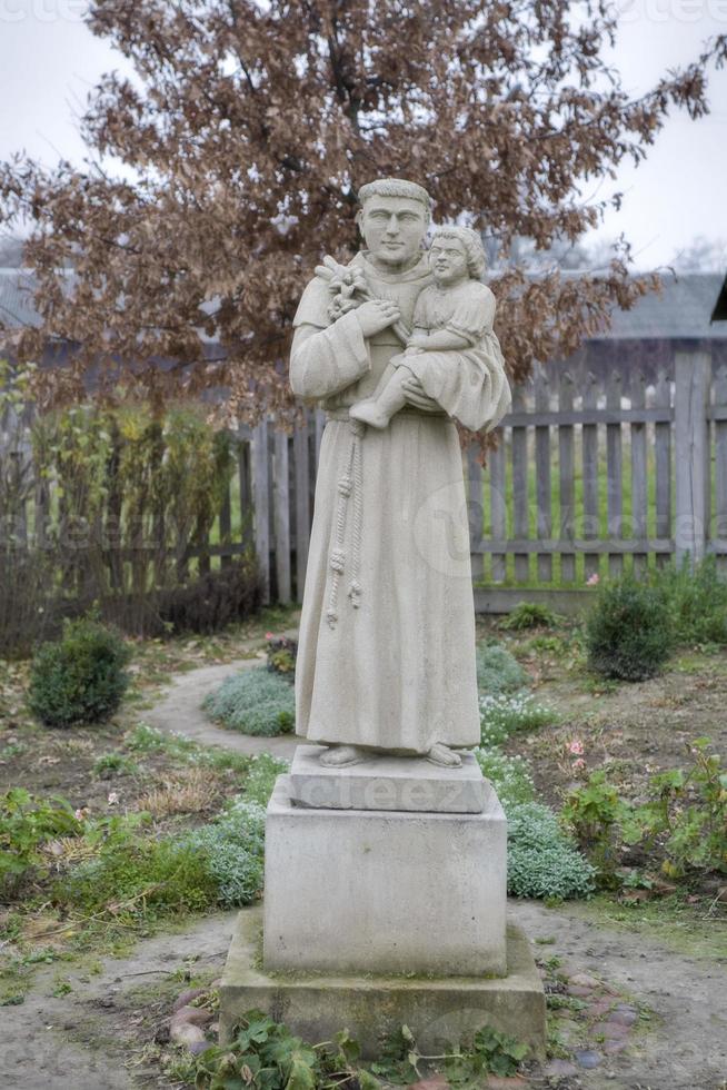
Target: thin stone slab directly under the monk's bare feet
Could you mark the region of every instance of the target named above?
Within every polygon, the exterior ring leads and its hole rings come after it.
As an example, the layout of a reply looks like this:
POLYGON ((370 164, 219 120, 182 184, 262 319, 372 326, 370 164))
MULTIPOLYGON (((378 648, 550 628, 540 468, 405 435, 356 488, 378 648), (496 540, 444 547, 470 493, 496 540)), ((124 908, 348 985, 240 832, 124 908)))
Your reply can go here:
POLYGON ((479 814, 491 787, 471 753, 458 769, 431 764, 426 757, 371 754, 342 769, 320 763, 321 745, 299 745, 290 769, 290 797, 296 806, 322 810, 402 810, 444 814, 479 814))

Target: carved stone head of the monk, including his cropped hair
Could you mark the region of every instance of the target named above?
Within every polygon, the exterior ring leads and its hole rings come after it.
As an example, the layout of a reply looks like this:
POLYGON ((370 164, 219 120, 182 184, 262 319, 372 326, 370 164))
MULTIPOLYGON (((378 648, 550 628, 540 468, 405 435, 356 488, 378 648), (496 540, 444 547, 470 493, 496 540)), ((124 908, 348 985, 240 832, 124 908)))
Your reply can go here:
POLYGON ((379 178, 361 186, 358 228, 374 261, 392 271, 418 259, 431 219, 426 189, 402 178, 379 178))

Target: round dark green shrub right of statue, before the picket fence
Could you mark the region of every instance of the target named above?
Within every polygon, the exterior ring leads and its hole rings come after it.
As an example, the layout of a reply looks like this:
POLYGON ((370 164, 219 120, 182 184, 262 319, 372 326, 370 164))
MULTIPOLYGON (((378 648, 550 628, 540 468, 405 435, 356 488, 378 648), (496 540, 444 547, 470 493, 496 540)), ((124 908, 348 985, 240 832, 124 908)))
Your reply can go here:
POLYGON ((604 677, 653 677, 674 646, 664 595, 631 576, 602 584, 588 617, 586 644, 588 665, 604 677))

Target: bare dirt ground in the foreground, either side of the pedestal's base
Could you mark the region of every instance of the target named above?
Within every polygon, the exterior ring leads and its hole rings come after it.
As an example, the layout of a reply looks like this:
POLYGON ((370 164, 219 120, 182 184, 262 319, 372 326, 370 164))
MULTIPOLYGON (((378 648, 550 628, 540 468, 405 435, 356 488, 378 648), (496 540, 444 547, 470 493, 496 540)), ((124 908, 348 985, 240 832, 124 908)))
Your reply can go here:
MULTIPOLYGON (((538 957, 589 972, 647 1017, 633 1043, 598 1070, 525 1087, 558 1090, 720 1090, 727 1080, 727 959, 686 958, 639 935, 604 928, 582 906, 546 909, 511 902, 538 957), (542 940, 547 945, 538 944, 542 940)), ((171 1087, 155 1061, 185 977, 221 972, 235 913, 188 922, 146 940, 122 959, 104 959, 89 977, 70 969, 70 990, 53 997, 54 973, 41 972, 21 1007, 2 1012, 0 1086, 13 1090, 132 1090, 171 1087)), ((56 989, 57 990, 57 989, 56 989)))

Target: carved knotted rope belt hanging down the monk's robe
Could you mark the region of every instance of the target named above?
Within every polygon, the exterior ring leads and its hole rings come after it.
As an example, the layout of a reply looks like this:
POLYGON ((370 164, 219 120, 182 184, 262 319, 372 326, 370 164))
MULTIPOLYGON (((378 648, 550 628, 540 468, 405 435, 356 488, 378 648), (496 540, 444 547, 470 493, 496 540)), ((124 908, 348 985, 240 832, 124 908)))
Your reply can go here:
MULTIPOLYGON (((419 413, 416 409, 401 409, 397 416, 418 416, 419 418, 448 419, 446 413, 419 413)), ((338 409, 328 413, 329 420, 348 422, 351 442, 348 448, 346 466, 338 479, 337 492, 338 503, 336 505, 336 522, 333 545, 330 552, 330 594, 328 597, 328 610, 326 620, 331 628, 336 627, 338 621, 338 591, 341 576, 346 572, 346 522, 348 516, 348 502, 352 497, 353 503, 353 525, 351 526, 351 569, 348 584, 347 596, 351 600, 351 606, 358 610, 361 604, 364 587, 360 581, 361 571, 361 531, 364 526, 364 452, 362 439, 366 432, 366 424, 360 420, 351 420, 348 409, 338 409)))

